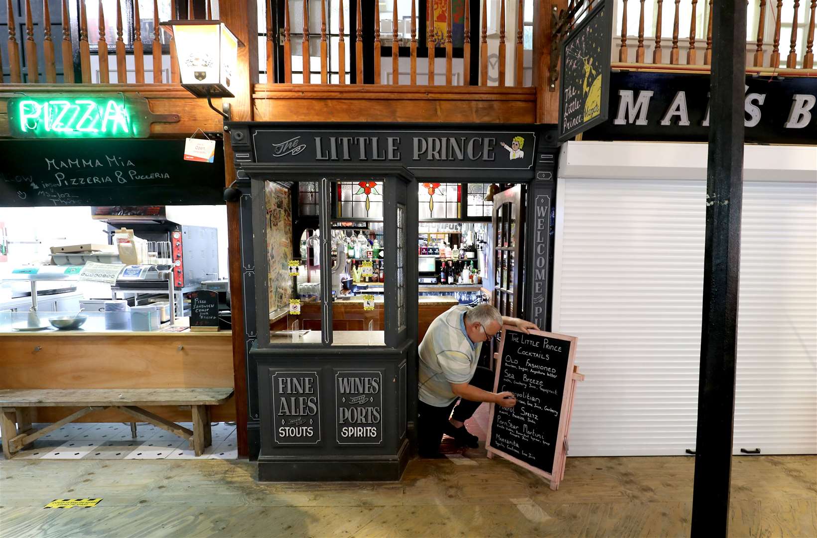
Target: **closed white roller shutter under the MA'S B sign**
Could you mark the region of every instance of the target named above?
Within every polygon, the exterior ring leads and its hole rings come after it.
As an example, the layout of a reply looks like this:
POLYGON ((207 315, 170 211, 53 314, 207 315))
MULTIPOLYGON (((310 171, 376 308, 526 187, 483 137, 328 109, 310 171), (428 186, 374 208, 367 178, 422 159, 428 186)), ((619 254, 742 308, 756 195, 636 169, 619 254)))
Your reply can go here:
MULTIPOLYGON (((791 169, 775 181, 746 172, 735 452, 817 451, 817 149, 792 150, 799 169, 786 151, 752 148, 746 159, 791 169)), ((587 374, 571 456, 694 448, 705 168, 705 145, 570 143, 563 152, 552 325, 579 337, 587 374)))

